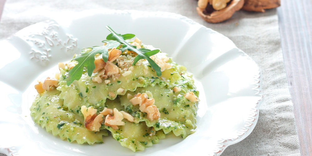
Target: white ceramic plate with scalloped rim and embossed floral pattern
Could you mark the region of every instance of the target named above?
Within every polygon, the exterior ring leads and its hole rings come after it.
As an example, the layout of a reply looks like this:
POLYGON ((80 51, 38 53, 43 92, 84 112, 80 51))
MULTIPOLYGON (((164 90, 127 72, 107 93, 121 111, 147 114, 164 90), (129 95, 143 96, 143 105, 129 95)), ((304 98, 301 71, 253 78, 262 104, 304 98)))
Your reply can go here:
POLYGON ((0 41, 0 153, 8 155, 220 155, 254 129, 261 103, 259 67, 227 37, 168 12, 88 10, 40 22, 0 41), (168 136, 133 153, 112 137, 93 146, 69 143, 30 117, 34 85, 83 47, 109 34, 133 33, 194 74, 199 90, 196 133, 168 136))

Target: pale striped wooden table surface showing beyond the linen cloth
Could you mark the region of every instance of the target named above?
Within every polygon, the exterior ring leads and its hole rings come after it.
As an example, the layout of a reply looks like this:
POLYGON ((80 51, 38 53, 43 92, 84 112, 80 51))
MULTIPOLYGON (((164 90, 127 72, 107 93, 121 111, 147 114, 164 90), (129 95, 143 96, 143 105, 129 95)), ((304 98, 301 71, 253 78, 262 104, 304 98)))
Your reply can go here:
POLYGON ((281 0, 277 11, 300 152, 312 155, 312 0, 281 0))

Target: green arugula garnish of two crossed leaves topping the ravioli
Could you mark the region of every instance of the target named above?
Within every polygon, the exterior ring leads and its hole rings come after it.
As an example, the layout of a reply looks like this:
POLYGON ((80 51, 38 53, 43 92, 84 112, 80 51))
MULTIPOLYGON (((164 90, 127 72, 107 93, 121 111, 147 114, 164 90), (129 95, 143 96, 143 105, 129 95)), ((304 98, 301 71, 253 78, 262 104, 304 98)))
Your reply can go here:
POLYGON ((130 45, 127 41, 128 39, 133 38, 134 34, 118 34, 116 33, 110 26, 106 26, 106 28, 111 32, 107 37, 106 40, 102 41, 106 43, 105 46, 94 46, 89 48, 83 48, 81 54, 74 57, 73 60, 78 61, 78 64, 72 68, 67 77, 67 85, 71 85, 74 80, 79 80, 82 76, 84 67, 87 68, 88 75, 91 77, 93 70, 95 69, 95 55, 102 54, 103 60, 107 62, 108 60, 108 50, 112 48, 117 48, 119 45, 122 47, 119 49, 122 52, 125 50, 134 51, 138 55, 134 58, 133 66, 140 60, 146 59, 149 61, 149 64, 153 69, 156 71, 157 76, 161 76, 160 67, 151 59, 149 58, 152 55, 155 55, 159 52, 158 49, 156 50, 149 50, 145 48, 137 49, 136 46, 130 45))

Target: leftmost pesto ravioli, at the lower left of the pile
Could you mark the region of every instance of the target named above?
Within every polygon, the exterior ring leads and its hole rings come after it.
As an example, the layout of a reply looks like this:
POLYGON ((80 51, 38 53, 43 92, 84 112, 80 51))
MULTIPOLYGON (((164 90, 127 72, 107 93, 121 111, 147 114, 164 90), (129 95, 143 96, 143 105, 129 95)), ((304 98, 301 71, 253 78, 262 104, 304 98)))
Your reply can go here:
POLYGON ((75 113, 65 110, 63 100, 59 99, 60 91, 49 90, 38 95, 30 107, 31 116, 35 123, 46 128, 47 132, 59 135, 61 139, 69 142, 76 140, 78 144, 102 143, 107 130, 92 132, 83 126, 84 119, 75 113))

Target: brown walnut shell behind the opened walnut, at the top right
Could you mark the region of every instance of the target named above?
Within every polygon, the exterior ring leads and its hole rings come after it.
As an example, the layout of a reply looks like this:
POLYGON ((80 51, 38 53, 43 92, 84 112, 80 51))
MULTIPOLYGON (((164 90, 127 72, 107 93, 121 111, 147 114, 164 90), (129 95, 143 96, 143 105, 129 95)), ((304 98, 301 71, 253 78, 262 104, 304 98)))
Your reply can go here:
POLYGON ((264 9, 272 9, 280 6, 280 0, 245 0, 241 8, 246 11, 265 12, 264 9))

